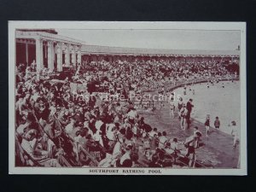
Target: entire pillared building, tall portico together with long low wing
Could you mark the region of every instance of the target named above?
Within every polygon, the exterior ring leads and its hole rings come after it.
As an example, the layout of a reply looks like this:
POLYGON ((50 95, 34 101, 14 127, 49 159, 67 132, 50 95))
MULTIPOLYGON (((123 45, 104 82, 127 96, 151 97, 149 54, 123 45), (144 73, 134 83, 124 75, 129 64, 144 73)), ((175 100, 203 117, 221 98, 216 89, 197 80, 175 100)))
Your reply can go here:
POLYGON ((16 65, 36 64, 38 79, 46 67, 49 72, 61 72, 63 67, 76 67, 90 61, 147 61, 153 59, 195 61, 239 61, 240 48, 236 50, 177 50, 139 49, 88 45, 83 41, 58 35, 54 29, 19 29, 15 32, 16 65))

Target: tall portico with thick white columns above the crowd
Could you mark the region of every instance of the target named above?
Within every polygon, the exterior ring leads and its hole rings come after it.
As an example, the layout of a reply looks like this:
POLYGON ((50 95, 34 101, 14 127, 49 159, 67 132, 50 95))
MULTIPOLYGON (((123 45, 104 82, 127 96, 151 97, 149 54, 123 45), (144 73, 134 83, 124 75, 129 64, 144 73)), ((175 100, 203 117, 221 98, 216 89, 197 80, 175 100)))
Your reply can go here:
POLYGON ((63 67, 81 63, 81 42, 63 37, 54 30, 16 30, 16 64, 33 61, 37 72, 43 67, 61 72, 63 67))

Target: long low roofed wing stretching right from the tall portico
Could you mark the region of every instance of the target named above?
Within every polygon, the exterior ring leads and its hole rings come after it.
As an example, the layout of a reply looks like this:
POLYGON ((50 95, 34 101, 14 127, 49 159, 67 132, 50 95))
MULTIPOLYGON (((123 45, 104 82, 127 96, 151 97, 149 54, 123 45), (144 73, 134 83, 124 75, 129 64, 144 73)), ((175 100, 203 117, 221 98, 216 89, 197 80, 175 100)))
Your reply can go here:
POLYGON ((238 61, 240 48, 235 50, 191 50, 191 49, 141 49, 99 45, 82 45, 82 61, 238 61))

